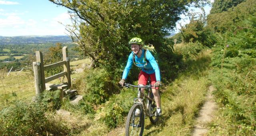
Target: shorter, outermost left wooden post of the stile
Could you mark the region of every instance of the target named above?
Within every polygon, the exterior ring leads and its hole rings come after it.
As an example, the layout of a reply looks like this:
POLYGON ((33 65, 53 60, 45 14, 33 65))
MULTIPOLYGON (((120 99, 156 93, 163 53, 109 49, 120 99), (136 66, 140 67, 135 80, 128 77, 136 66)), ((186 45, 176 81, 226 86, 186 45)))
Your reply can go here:
POLYGON ((42 77, 41 77, 39 62, 33 62, 33 70, 34 70, 36 95, 38 95, 42 93, 42 82, 41 82, 42 77))

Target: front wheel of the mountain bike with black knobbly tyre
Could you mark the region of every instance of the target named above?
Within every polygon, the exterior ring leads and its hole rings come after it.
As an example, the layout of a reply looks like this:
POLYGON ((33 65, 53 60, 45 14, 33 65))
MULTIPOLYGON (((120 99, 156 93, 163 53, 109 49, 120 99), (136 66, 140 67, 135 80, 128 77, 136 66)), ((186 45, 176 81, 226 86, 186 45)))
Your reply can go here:
POLYGON ((144 130, 144 119, 144 112, 140 107, 140 103, 135 103, 127 116, 125 124, 125 135, 142 136, 144 130))

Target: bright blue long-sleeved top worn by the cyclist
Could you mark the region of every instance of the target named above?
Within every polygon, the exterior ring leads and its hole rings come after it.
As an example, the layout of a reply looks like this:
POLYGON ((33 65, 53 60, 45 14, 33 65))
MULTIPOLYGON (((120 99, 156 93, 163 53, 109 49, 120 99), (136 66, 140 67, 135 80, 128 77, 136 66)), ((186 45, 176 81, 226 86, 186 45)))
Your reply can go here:
MULTIPOLYGON (((146 60, 144 59, 144 52, 145 50, 142 49, 142 54, 140 56, 140 58, 138 58, 137 55, 135 55, 135 63, 138 66, 143 66, 143 67, 139 67, 142 68, 142 71, 146 72, 147 74, 153 74, 156 73, 156 81, 160 81, 160 70, 159 70, 159 66, 154 58, 154 56, 151 54, 150 51, 146 52, 146 59, 149 61, 149 63, 144 66, 146 64, 146 60)), ((132 68, 132 63, 133 63, 133 52, 129 55, 126 67, 124 68, 124 73, 122 76, 122 79, 126 79, 128 76, 128 73, 130 71, 130 69, 132 68)))

